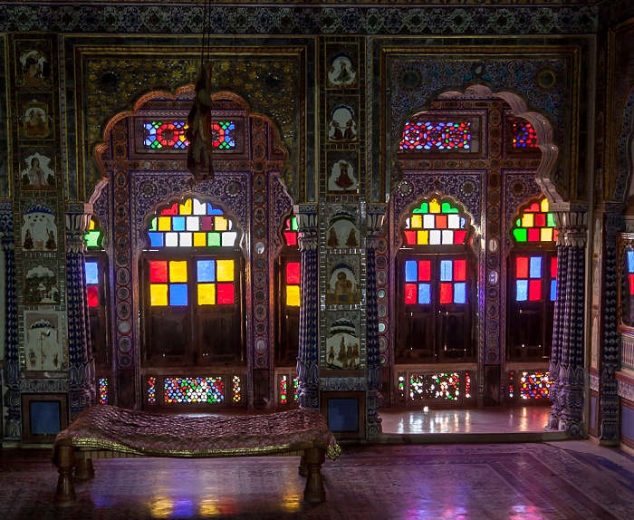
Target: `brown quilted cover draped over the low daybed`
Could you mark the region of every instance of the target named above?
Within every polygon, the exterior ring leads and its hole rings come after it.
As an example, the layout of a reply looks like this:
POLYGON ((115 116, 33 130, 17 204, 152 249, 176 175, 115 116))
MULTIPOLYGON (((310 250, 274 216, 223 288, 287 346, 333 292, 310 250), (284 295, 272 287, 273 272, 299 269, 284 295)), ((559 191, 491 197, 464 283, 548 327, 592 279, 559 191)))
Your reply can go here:
POLYGON ((341 453, 325 419, 312 409, 190 417, 95 404, 57 435, 55 445, 150 457, 241 457, 322 448, 334 460, 341 453))

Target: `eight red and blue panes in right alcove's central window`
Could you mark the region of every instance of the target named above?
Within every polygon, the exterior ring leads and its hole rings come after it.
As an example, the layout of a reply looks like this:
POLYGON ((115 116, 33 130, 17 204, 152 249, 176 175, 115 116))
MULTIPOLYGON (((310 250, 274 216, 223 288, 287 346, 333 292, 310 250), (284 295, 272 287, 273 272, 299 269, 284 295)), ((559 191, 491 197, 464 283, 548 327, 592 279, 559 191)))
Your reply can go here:
POLYGON ((437 296, 432 294, 431 260, 406 260, 405 304, 428 305, 432 298, 438 303, 466 303, 466 259, 441 259, 437 263, 440 283, 437 296))

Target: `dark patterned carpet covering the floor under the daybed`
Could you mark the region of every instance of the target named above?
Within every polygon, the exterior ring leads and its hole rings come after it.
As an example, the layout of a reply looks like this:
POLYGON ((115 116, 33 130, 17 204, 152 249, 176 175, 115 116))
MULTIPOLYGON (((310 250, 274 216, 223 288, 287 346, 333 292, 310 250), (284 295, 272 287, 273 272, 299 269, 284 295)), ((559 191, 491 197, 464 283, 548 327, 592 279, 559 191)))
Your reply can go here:
POLYGON ((634 474, 563 446, 343 447, 322 468, 327 501, 317 506, 303 503, 298 457, 96 460, 97 477, 78 481, 78 502, 66 508, 53 505, 50 452, 5 448, 0 514, 2 520, 631 518, 634 474))

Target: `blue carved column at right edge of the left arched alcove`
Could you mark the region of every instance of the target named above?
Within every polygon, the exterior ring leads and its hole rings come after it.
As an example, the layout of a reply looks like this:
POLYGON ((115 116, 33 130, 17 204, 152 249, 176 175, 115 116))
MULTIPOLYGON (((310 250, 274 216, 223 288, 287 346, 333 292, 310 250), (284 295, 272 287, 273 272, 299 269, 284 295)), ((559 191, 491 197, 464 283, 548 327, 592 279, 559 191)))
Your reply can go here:
POLYGON ((314 204, 295 206, 294 211, 302 251, 297 391, 300 406, 319 409, 319 216, 314 204))

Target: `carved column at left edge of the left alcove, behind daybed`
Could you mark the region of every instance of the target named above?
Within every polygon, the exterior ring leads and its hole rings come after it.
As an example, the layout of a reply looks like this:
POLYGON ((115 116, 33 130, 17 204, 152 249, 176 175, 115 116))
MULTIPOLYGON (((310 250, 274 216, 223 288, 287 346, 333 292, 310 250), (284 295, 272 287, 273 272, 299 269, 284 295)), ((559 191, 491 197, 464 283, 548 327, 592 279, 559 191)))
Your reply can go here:
POLYGON ((94 361, 86 296, 85 235, 91 223, 91 204, 66 207, 66 305, 71 419, 95 399, 94 361))

